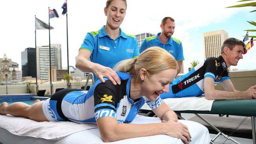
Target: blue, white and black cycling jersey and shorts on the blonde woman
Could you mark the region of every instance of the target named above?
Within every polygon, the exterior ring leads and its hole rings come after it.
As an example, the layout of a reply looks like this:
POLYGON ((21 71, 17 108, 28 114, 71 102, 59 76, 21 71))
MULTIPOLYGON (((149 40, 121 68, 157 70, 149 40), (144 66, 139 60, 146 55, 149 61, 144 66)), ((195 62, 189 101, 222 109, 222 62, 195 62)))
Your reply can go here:
POLYGON ((97 80, 89 89, 63 89, 56 92, 48 103, 44 113, 49 121, 70 120, 76 123, 96 123, 98 118, 110 116, 119 123, 130 123, 147 103, 151 109, 161 105, 158 96, 150 101, 146 96, 136 100, 130 98, 130 74, 117 72, 121 85, 114 85, 109 79, 105 83, 97 80), (50 118, 49 118, 50 117, 50 118))

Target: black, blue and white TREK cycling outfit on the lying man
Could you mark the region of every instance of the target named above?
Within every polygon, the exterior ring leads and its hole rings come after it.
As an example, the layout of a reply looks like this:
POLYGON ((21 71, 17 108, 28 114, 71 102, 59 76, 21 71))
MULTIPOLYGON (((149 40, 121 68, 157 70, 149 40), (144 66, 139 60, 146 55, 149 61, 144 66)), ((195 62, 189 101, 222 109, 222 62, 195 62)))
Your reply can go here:
POLYGON ((160 95, 165 98, 181 98, 200 96, 204 94, 204 78, 214 79, 215 86, 226 79, 230 79, 227 65, 222 56, 209 57, 199 63, 189 73, 175 78, 169 86, 169 92, 160 95))

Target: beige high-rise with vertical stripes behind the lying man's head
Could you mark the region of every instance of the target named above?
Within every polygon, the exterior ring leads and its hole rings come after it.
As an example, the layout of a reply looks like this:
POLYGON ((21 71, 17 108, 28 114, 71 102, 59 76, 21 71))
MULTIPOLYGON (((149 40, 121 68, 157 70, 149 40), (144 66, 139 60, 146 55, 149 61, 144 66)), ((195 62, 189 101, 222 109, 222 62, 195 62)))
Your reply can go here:
POLYGON ((204 58, 219 57, 221 46, 228 39, 228 33, 224 30, 203 33, 204 58))

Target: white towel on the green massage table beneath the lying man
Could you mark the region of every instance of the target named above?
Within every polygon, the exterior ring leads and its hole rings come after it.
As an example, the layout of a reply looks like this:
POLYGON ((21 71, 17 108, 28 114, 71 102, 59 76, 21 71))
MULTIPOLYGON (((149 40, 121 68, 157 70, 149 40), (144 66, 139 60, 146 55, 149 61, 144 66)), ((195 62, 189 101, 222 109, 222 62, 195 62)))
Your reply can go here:
MULTIPOLYGON (((204 96, 184 97, 184 98, 166 98, 163 100, 173 111, 211 111, 214 100, 207 100, 204 96)), ((151 110, 145 103, 141 109, 151 110)))

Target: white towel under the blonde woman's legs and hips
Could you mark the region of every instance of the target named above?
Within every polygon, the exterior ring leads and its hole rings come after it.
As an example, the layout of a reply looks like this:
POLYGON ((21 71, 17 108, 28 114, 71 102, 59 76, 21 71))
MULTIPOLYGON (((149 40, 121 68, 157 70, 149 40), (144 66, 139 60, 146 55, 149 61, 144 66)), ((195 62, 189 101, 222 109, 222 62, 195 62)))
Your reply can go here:
POLYGON ((97 125, 74 122, 36 122, 7 114, 0 115, 0 127, 14 135, 59 140, 78 131, 97 128, 97 125))

